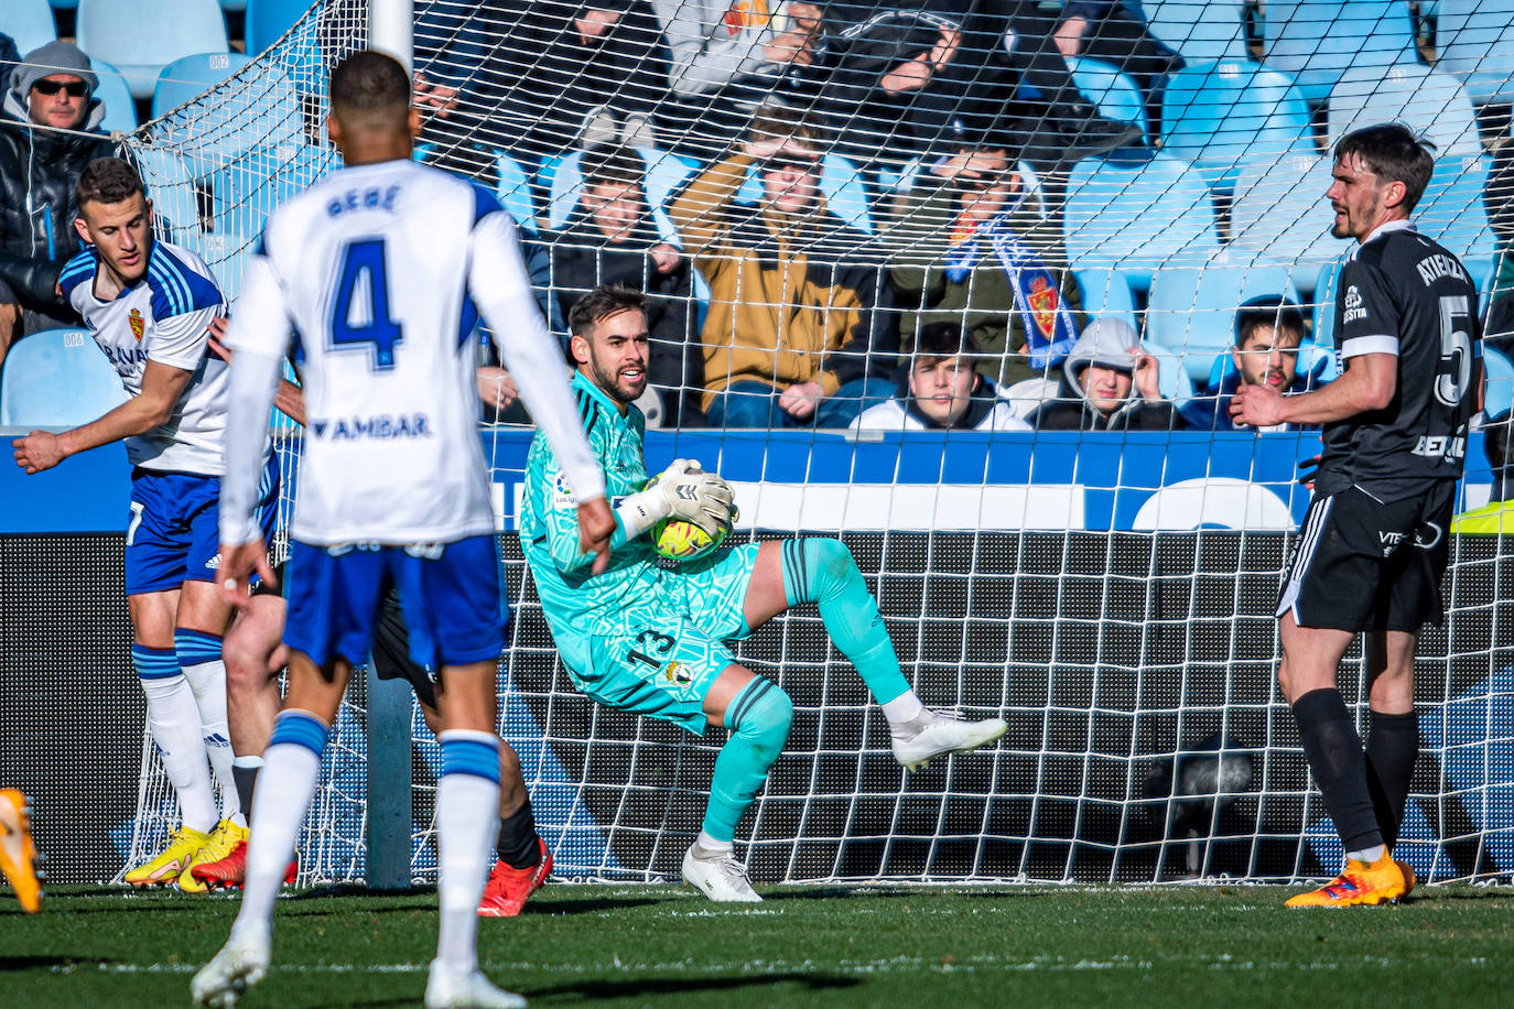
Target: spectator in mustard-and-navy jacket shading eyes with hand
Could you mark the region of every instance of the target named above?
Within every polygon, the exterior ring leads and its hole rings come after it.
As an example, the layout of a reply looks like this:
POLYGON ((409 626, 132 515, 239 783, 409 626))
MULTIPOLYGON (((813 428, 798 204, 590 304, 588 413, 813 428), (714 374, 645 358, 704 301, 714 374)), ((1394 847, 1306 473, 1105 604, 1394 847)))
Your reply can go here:
POLYGON ((765 107, 740 151, 669 206, 710 284, 712 427, 845 428, 893 395, 899 325, 881 247, 827 210, 816 127, 765 107), (751 175, 755 204, 737 201, 751 175))

